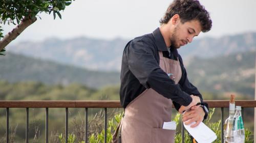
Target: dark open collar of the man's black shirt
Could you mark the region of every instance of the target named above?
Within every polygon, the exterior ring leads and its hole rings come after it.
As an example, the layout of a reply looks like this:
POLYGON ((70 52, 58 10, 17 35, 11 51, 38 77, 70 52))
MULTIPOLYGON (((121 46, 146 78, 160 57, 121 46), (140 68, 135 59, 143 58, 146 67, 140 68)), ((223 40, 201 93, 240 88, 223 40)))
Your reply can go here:
MULTIPOLYGON (((168 51, 159 27, 153 32, 153 36, 155 38, 158 50, 168 51)), ((170 46, 170 52, 172 52, 174 56, 178 57, 179 53, 176 48, 173 48, 172 46, 170 46)))

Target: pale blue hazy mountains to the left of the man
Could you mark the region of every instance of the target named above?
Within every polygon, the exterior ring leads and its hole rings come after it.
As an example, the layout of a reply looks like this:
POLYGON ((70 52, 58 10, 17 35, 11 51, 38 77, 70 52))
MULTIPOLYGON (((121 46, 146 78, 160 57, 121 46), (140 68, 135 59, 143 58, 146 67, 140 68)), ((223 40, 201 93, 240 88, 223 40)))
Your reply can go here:
POLYGON ((86 37, 67 40, 49 38, 42 42, 20 42, 7 49, 13 53, 86 69, 120 71, 126 42, 123 39, 107 41, 86 37))

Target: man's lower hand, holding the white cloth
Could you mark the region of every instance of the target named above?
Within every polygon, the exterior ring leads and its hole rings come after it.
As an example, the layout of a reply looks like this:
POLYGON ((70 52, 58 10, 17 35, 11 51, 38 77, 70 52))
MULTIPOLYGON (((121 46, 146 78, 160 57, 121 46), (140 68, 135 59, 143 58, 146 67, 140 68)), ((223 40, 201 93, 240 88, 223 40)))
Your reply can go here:
POLYGON ((194 128, 198 126, 204 119, 205 112, 200 105, 198 106, 192 106, 190 110, 186 111, 182 115, 182 121, 185 122, 185 125, 189 125, 193 122, 196 122, 196 124, 191 125, 191 128, 194 128))

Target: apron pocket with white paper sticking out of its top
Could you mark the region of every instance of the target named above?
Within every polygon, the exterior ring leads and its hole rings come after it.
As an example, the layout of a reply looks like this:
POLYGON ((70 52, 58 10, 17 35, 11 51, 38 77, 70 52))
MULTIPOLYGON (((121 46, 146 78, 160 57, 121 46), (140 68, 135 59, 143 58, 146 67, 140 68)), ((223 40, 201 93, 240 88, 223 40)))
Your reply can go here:
POLYGON ((153 128, 152 143, 174 143, 176 130, 153 128))

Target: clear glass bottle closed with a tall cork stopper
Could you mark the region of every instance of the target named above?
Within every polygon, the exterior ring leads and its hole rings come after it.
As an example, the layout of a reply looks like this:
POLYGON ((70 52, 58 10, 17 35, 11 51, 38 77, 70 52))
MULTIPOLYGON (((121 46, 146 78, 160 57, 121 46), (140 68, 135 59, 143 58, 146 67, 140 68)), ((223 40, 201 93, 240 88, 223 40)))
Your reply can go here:
POLYGON ((229 101, 229 117, 224 124, 224 139, 226 142, 240 142, 241 134, 238 132, 237 119, 234 117, 234 95, 230 96, 229 101))

